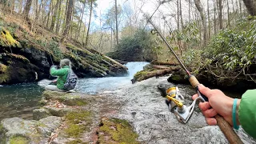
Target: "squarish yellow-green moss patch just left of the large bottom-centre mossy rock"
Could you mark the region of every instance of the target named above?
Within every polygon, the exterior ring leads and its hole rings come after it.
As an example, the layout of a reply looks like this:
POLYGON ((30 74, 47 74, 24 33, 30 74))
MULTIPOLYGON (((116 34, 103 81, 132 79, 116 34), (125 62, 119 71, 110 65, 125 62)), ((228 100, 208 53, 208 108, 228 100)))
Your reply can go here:
POLYGON ((72 138, 78 138, 85 130, 89 130, 92 123, 89 111, 75 111, 66 114, 66 134, 72 138))

